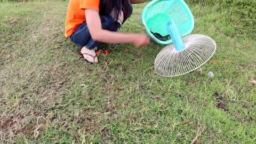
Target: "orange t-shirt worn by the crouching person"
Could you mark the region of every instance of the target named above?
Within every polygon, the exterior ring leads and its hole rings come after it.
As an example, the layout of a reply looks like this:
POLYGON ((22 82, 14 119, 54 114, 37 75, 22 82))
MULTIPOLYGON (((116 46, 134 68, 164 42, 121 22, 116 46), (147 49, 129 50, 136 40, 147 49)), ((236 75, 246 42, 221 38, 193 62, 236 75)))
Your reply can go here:
POLYGON ((66 17, 65 36, 70 37, 77 27, 85 21, 85 9, 99 11, 100 0, 70 0, 66 17))

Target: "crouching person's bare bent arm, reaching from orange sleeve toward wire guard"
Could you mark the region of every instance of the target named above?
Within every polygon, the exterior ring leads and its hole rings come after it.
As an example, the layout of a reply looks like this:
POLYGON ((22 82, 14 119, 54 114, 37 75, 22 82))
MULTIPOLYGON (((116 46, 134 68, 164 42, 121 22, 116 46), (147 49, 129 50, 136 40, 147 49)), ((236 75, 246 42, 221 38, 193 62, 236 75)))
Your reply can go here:
POLYGON ((133 43, 137 47, 144 46, 150 42, 149 37, 145 34, 123 34, 102 29, 98 11, 86 9, 85 17, 94 41, 102 43, 133 43))

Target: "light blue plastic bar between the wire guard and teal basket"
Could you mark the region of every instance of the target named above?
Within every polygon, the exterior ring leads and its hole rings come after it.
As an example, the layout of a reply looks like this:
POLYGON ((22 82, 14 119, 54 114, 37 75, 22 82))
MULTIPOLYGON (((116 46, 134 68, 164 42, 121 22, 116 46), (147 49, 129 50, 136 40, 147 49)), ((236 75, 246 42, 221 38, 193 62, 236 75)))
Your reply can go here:
POLYGON ((182 39, 180 37, 179 31, 177 26, 173 21, 167 22, 167 30, 169 32, 169 35, 171 36, 172 42, 175 46, 175 49, 177 51, 181 51, 184 49, 184 43, 182 42, 182 39))

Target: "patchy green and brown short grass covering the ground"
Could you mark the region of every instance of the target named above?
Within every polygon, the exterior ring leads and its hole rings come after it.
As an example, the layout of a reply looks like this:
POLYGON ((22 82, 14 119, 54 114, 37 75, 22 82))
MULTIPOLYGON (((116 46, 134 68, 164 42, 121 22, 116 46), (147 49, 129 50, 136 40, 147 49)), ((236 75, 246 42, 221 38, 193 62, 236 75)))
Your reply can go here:
MULTIPOLYGON (((67 5, 0 3, 0 143, 255 143, 256 42, 225 11, 189 4, 193 34, 216 41, 212 59, 231 62, 166 78, 154 71, 163 48, 154 43, 85 63, 64 37, 67 5)), ((144 31, 145 5, 122 31, 144 31)))

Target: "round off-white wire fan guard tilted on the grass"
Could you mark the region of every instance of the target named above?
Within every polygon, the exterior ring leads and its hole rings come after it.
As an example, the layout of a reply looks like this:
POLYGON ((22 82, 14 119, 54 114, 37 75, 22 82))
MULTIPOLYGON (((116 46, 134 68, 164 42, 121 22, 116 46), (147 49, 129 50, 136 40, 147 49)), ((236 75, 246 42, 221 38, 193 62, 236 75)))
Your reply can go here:
POLYGON ((174 77, 187 74, 211 59, 216 51, 216 43, 205 35, 182 37, 185 49, 177 51, 173 44, 167 45, 155 59, 158 75, 174 77))

